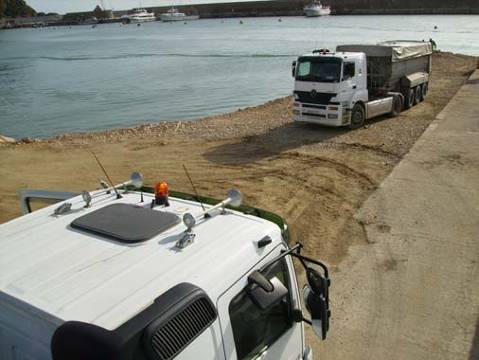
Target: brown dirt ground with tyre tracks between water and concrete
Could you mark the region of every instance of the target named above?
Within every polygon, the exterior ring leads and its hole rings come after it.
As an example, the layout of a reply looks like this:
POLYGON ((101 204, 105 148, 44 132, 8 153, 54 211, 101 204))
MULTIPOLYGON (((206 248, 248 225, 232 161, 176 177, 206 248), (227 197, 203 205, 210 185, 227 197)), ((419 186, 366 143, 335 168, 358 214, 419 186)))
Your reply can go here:
MULTIPOLYGON (((449 53, 433 61, 426 101, 355 131, 293 123, 292 101, 285 98, 196 122, 0 146, 0 222, 20 214, 19 188, 96 188, 103 175, 90 151, 115 182, 139 170, 147 184, 166 180, 172 189, 192 192, 185 164, 200 193, 222 198, 236 187, 245 203, 282 215, 293 240, 329 263, 334 277, 349 247, 366 242, 356 210, 477 67, 477 58, 449 53)), ((333 292, 332 301, 340 297, 333 292)), ((333 349, 326 342, 321 351, 333 349)))

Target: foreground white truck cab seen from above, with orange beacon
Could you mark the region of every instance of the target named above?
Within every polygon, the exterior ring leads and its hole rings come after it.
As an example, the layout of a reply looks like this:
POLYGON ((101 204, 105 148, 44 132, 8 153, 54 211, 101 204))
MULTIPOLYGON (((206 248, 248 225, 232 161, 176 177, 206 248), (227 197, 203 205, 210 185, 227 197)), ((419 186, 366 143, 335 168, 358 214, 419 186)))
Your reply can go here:
POLYGON ((153 191, 138 173, 91 193, 23 191, 28 214, 0 225, 0 358, 312 359, 303 323, 326 338, 328 269, 279 216, 240 203, 153 191), (28 213, 38 198, 66 200, 28 213))

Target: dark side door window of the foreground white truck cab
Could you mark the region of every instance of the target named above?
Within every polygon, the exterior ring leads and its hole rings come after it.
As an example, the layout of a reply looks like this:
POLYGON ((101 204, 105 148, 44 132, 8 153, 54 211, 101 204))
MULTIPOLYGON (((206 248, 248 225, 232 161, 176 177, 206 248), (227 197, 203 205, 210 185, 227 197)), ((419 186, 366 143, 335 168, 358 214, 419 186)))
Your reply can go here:
POLYGON ((289 295, 272 308, 261 311, 245 290, 231 300, 229 315, 238 360, 254 359, 291 328, 291 287, 286 269, 283 260, 271 266, 265 273, 268 279, 276 276, 289 292, 289 295))

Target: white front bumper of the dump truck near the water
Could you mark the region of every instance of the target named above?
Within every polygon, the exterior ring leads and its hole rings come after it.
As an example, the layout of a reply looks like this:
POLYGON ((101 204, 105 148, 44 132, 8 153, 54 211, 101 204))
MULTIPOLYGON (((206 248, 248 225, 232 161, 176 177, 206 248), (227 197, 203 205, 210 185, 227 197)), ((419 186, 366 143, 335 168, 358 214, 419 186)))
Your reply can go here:
POLYGON ((293 120, 326 126, 349 125, 351 114, 341 105, 317 105, 294 102, 293 120))

